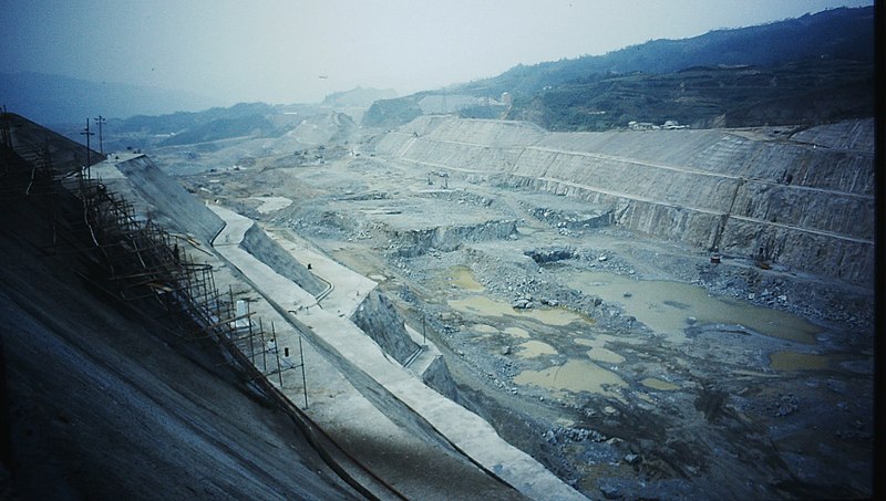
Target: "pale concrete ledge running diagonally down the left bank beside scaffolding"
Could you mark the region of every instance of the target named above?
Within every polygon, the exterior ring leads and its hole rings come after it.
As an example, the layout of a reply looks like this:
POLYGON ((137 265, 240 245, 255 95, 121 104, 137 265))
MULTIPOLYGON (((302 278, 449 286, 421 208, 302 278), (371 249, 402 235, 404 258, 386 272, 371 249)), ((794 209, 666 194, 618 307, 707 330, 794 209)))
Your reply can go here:
MULTIPOLYGON (((244 273, 287 322, 390 418, 431 443, 441 443, 464 453, 484 471, 525 495, 534 499, 584 498, 534 459, 498 438, 476 415, 427 388, 400 365, 385 361, 369 337, 342 315, 336 316, 326 310, 315 311, 312 316, 306 315, 303 320, 290 315, 281 302, 299 295, 302 301, 312 301, 313 298, 251 254, 241 252, 243 228, 250 227, 251 221, 220 207, 213 210, 228 223, 217 239, 224 244, 216 244, 216 249, 244 273), (484 428, 488 431, 482 431, 484 428)), ((421 347, 418 354, 421 354, 421 347)))

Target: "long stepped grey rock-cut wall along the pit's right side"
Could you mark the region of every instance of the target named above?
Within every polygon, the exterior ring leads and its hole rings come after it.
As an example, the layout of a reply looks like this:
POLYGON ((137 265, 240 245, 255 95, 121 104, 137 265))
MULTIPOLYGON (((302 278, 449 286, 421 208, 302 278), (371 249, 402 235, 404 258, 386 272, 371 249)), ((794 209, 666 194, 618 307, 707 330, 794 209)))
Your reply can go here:
POLYGON ((699 249, 873 286, 873 119, 800 132, 549 133, 420 117, 375 152, 607 206, 616 225, 699 249))

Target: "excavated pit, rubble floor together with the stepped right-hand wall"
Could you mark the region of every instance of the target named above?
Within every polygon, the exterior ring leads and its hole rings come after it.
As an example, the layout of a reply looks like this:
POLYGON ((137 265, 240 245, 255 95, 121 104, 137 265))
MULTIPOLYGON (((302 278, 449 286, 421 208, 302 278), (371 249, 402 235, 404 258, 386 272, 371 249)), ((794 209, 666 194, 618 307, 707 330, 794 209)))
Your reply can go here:
POLYGON ((429 385, 589 498, 870 495, 873 121, 334 137, 152 156, 378 282, 429 385))

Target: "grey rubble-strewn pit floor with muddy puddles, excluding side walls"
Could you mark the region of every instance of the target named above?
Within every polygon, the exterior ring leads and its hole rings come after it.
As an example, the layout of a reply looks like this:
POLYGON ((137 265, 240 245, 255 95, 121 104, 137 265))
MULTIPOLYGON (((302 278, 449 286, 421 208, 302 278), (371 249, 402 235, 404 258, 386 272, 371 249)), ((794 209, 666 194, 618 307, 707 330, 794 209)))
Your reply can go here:
POLYGON ((381 159, 183 180, 380 281, 455 398, 591 498, 870 494, 870 291, 381 159))

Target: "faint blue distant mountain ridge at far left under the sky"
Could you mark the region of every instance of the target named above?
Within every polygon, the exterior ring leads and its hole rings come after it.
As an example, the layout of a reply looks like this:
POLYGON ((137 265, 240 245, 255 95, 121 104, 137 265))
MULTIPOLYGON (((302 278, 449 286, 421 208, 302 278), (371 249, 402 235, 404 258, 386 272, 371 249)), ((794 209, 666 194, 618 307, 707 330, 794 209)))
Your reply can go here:
POLYGON ((181 91, 21 72, 0 73, 0 104, 37 123, 70 124, 97 115, 107 118, 161 115, 206 109, 219 103, 181 91))

